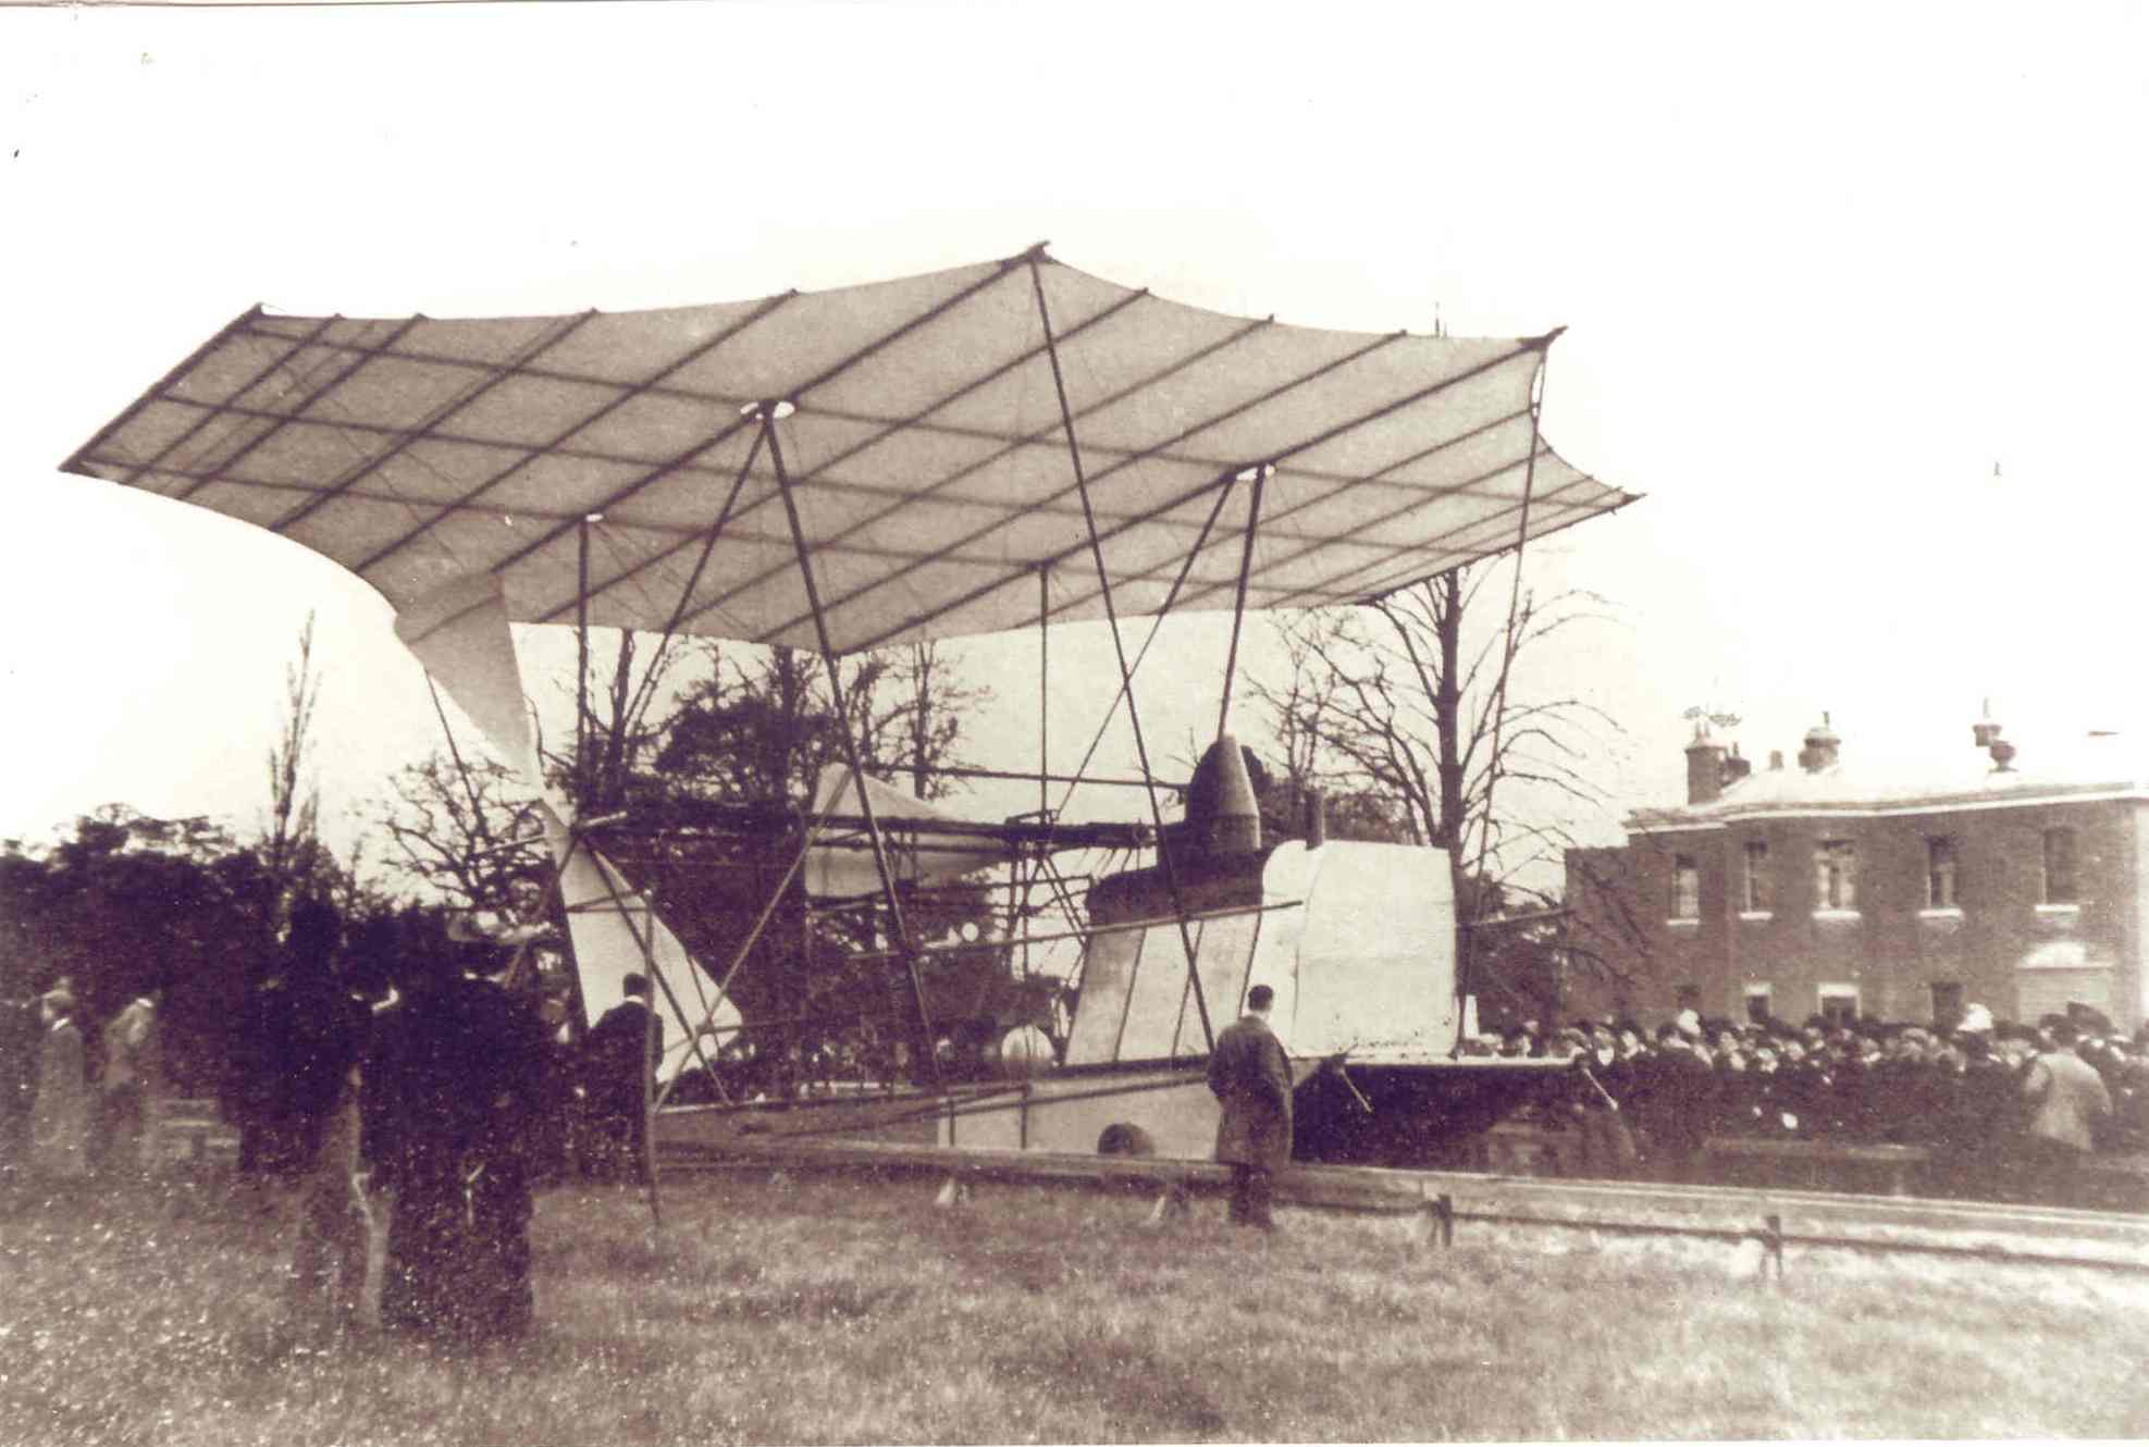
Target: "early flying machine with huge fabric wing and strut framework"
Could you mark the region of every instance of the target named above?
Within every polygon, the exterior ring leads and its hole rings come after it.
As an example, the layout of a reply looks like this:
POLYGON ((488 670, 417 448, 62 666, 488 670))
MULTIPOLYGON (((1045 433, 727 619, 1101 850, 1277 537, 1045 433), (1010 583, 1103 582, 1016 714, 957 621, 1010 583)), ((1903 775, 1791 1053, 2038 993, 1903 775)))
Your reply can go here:
POLYGON ((1227 718, 1186 817, 1167 821, 1124 621, 1229 611, 1229 699, 1246 611, 1380 598, 1625 505, 1541 434, 1556 335, 1221 316, 1042 247, 653 312, 251 310, 67 469, 249 520, 372 583, 398 636, 544 793, 582 1008, 615 1002, 630 970, 649 974, 681 1026, 677 1064, 722 1077, 720 1043, 752 1023, 733 974, 771 920, 875 901, 866 955, 907 985, 907 1030, 926 1043, 913 1081, 825 1109, 718 1099, 666 1112, 662 1133, 879 1129, 1208 1155, 1199 1066, 1246 985, 1266 980, 1309 1077, 1304 1152, 1384 1159, 1401 1148, 1393 1122, 1420 1137, 1483 1124, 1530 1071, 1453 1058, 1446 858, 1324 843, 1317 828, 1264 843, 1227 718), (1049 806, 950 817, 868 778, 849 737, 845 768, 778 817, 576 817, 546 789, 509 630, 791 645, 834 675, 864 649, 1074 621, 1102 624, 1115 649, 1117 677, 1083 692, 1126 705, 1148 796, 1128 823, 1070 823, 1049 806), (694 918, 718 888, 720 871, 681 873, 688 845, 741 832, 759 836, 759 862, 724 888, 739 894, 746 877, 750 907, 675 933, 666 918, 694 918), (1083 897, 1053 866, 1070 849, 1148 862, 1083 897), (1079 995, 1064 1060, 1025 1056, 1025 1036, 1008 1051, 1029 1069, 956 1081, 933 1056, 918 965, 961 942, 922 937, 915 905, 980 869, 1010 871, 1010 946, 1079 944, 1079 995), (1315 1069, 1337 1060, 1347 1079, 1315 1069))

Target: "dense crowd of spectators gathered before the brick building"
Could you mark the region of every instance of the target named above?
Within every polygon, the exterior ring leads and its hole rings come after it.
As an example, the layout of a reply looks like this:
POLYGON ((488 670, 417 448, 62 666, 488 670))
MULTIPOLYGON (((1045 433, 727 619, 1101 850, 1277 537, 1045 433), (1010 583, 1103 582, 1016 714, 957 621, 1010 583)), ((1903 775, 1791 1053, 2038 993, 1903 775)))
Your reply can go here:
MULTIPOLYGON (((2149 1026, 2095 1015, 1953 1028, 1885 1021, 1526 1021, 1472 1054, 1554 1056, 1569 1069, 1534 1116, 1573 1131, 1582 1174, 1693 1178, 1713 1135, 1923 1146, 1999 1193, 2063 1198, 2095 1150, 2149 1144, 2149 1026)), ((1981 1191, 1971 1191, 1981 1193, 1981 1191)))

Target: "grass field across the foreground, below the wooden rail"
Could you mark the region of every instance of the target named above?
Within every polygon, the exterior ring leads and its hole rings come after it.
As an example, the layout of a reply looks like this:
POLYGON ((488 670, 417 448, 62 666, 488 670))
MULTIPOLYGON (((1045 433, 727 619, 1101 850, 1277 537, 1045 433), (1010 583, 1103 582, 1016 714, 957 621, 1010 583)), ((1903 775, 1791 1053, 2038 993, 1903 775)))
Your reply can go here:
POLYGON ((2117 1277, 920 1180, 539 1198, 539 1331, 282 1346, 273 1217, 221 1185, 0 1213, 6 1443, 1027 1443, 2143 1436, 2117 1277))

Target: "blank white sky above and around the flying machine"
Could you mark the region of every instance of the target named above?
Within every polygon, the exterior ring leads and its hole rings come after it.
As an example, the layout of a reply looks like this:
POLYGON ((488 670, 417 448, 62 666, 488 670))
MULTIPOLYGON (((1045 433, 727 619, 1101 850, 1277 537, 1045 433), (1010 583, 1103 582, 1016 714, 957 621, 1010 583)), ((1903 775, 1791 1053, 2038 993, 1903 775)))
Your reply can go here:
MULTIPOLYGON (((1620 608, 1537 684, 1625 725, 1618 808, 1676 802, 1693 703, 1756 759, 1820 710, 1910 759, 1990 694, 2031 763, 2145 722, 2145 135, 2121 4, 0 11, 0 836, 258 819, 307 611, 331 815, 438 737, 355 578, 54 471, 247 305, 677 305, 1034 241, 1289 323, 1567 325, 1545 434, 1648 497, 1539 550, 1620 608)), ((1087 632, 1055 768, 1111 692, 1087 632)), ((1223 628, 1167 641, 1184 755, 1223 628)), ((986 753, 1034 763, 1032 643, 971 658, 986 753)))

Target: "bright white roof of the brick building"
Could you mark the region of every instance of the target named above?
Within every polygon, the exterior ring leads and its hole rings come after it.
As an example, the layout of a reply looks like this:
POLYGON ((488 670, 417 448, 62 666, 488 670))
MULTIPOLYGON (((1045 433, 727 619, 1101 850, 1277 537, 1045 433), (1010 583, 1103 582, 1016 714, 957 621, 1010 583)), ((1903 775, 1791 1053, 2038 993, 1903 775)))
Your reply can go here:
POLYGON ((1786 763, 1728 783, 1706 804, 1635 808, 1627 828, 1650 832, 1766 815, 1906 815, 2100 798, 2149 800, 2149 759, 2140 740, 2039 740, 2007 770, 1968 746, 1936 753, 1923 768, 1861 763, 1857 755, 1816 772, 1786 763))

